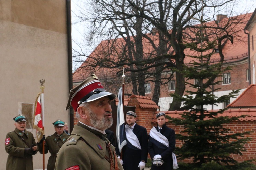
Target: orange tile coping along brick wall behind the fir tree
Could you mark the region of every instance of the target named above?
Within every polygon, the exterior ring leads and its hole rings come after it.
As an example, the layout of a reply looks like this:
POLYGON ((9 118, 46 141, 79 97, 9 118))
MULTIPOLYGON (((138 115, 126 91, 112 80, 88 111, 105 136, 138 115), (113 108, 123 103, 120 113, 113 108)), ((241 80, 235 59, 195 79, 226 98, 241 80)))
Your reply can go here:
MULTIPOLYGON (((165 114, 170 116, 171 118, 181 118, 181 114, 185 111, 166 111, 165 114)), ((217 110, 210 110, 209 112, 217 112, 217 110)), ((156 121, 156 114, 155 112, 152 116, 151 123, 157 123, 156 121)), ((228 116, 228 117, 238 117, 241 115, 246 115, 245 118, 239 118, 240 121, 255 121, 256 120, 256 109, 228 109, 223 112, 223 114, 218 114, 217 117, 220 116, 228 116)), ((166 122, 169 120, 166 119, 166 122)))

